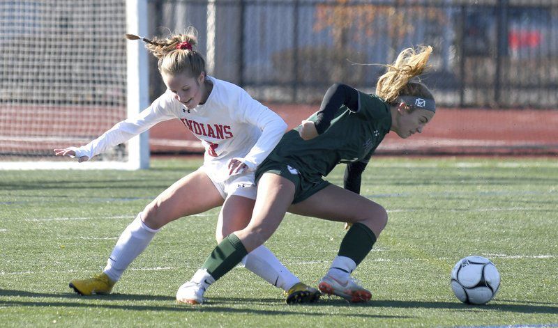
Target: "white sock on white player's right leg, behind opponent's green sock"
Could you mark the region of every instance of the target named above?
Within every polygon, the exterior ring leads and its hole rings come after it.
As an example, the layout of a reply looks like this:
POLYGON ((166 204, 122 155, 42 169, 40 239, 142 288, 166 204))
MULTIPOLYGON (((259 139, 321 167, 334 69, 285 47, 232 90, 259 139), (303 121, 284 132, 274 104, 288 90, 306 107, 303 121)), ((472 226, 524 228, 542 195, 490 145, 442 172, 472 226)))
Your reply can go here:
POLYGON ((246 269, 262 277, 273 286, 282 288, 282 290, 289 290, 294 284, 300 282, 300 279, 292 274, 285 265, 282 265, 278 258, 264 245, 244 256, 242 263, 246 269))

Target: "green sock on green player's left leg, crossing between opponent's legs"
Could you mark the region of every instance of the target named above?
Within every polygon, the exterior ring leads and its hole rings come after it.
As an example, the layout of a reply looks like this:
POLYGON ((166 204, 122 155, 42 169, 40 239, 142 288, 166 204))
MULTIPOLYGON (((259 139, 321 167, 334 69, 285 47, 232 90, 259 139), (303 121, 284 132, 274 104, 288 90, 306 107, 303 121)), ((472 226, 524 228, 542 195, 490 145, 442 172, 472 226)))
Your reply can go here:
POLYGON ((213 249, 211 255, 206 258, 202 269, 207 270, 213 279, 218 280, 239 264, 246 255, 248 255, 248 251, 239 237, 231 233, 213 249))

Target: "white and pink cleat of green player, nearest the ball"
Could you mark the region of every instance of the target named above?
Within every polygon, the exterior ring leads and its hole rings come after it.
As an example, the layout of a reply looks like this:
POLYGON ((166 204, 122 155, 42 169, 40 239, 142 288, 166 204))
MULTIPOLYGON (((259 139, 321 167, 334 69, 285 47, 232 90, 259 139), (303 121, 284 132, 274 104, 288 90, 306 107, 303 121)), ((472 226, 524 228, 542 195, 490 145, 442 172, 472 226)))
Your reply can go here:
POLYGON ((372 297, 370 290, 360 286, 351 276, 341 280, 326 274, 319 281, 318 288, 322 294, 337 295, 349 302, 368 302, 372 297))

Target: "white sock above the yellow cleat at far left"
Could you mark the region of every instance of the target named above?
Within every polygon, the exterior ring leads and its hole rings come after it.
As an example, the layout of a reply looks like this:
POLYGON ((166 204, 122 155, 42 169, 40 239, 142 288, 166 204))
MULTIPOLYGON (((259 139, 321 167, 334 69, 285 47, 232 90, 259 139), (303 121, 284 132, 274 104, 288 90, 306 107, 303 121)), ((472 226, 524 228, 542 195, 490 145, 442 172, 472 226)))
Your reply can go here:
POLYGON ((142 212, 137 214, 135 220, 120 235, 107 260, 107 266, 103 272, 109 276, 110 280, 120 280, 124 270, 144 251, 159 230, 151 229, 144 224, 142 212))

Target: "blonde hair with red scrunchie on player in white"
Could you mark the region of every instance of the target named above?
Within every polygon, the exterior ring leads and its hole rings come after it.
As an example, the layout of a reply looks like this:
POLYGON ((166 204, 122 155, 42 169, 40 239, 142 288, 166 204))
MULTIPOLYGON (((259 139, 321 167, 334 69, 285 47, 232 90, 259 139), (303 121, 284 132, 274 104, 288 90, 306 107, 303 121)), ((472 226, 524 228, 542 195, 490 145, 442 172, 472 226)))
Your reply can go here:
POLYGON ((158 58, 158 68, 161 74, 177 75, 186 72, 190 77, 198 77, 205 72, 205 61, 195 50, 197 45, 197 31, 193 26, 186 32, 174 34, 167 38, 154 37, 151 40, 133 34, 126 34, 129 40, 143 40, 145 47, 158 58), (186 46, 180 45, 187 42, 186 46))

